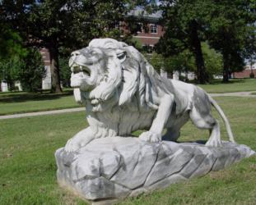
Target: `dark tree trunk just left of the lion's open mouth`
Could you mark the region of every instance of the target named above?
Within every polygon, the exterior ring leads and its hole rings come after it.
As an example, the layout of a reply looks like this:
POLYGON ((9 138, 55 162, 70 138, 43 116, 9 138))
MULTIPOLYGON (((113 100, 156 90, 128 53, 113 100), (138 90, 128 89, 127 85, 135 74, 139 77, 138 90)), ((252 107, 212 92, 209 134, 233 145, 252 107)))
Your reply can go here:
POLYGON ((51 43, 49 46, 49 58, 50 58, 50 71, 52 78, 51 93, 62 93, 59 78, 59 66, 58 66, 58 47, 51 43))

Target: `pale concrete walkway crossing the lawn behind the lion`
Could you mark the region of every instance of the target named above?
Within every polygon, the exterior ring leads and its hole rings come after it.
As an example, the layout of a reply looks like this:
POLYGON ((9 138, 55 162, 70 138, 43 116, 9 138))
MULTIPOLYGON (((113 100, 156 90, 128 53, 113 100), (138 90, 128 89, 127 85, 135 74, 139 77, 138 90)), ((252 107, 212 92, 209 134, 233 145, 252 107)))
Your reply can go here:
MULTIPOLYGON (((252 98, 256 97, 256 95, 251 95, 250 93, 256 93, 256 91, 236 92, 236 93, 210 93, 210 95, 212 97, 219 97, 219 96, 252 97, 252 98)), ((53 114, 60 114, 60 113, 67 113, 67 112, 82 112, 82 111, 86 111, 86 109, 84 107, 78 107, 78 108, 69 108, 69 109, 54 110, 54 111, 28 112, 28 113, 22 113, 22 114, 0 116, 0 120, 20 118, 20 117, 26 117, 26 116, 44 116, 44 115, 53 115, 53 114)))

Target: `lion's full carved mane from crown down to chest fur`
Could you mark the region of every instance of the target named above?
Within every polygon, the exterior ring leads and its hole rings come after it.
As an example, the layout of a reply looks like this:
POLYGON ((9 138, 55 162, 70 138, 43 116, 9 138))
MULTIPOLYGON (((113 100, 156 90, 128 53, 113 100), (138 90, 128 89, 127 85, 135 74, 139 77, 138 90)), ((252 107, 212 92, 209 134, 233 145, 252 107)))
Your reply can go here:
POLYGON ((180 105, 185 103, 179 101, 171 81, 162 78, 136 48, 114 39, 94 39, 84 49, 81 55, 96 51, 97 59, 92 68, 97 71, 97 83, 91 90, 80 89, 95 138, 148 129, 166 93, 175 95, 175 112, 183 111, 180 105))

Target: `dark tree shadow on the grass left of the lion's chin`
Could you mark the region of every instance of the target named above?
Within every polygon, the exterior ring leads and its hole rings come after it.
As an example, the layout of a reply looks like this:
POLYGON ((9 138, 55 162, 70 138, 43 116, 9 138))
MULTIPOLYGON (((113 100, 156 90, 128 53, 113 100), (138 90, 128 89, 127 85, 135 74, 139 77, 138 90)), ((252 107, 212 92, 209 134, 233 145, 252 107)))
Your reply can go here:
POLYGON ((72 90, 63 93, 5 93, 0 95, 0 103, 22 103, 26 101, 54 100, 72 95, 72 90))

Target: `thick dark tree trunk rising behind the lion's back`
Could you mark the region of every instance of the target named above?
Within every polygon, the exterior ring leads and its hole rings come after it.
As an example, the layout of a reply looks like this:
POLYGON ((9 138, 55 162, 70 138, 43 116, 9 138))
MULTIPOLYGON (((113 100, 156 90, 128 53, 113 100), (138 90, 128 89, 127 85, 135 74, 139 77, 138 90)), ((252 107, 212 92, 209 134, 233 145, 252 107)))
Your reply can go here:
POLYGON ((201 41, 198 36, 197 21, 192 21, 190 24, 190 39, 191 39, 191 47, 196 59, 198 83, 206 84, 209 81, 209 78, 207 76, 206 69, 204 66, 201 41))

